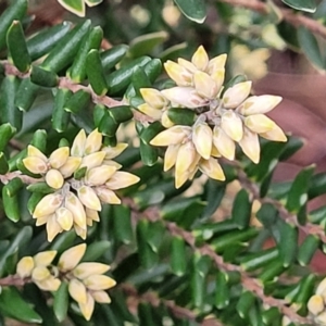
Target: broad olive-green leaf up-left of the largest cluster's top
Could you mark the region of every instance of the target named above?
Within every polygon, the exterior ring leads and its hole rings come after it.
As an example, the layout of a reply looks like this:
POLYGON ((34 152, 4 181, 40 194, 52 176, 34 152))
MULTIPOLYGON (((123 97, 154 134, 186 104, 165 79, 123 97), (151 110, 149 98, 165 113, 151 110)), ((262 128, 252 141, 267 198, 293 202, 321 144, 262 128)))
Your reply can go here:
POLYGON ((129 45, 129 54, 133 58, 150 54, 156 46, 164 42, 167 38, 168 34, 164 30, 138 36, 129 45))

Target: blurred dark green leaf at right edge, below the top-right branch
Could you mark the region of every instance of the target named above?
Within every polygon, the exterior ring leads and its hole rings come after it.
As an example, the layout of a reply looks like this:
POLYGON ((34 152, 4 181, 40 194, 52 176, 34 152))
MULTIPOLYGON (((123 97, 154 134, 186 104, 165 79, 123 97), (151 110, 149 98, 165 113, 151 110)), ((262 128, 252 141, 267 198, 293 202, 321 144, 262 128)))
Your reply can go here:
MULTIPOLYGON (((304 0, 305 1, 305 0, 304 0)), ((321 70, 325 70, 325 60, 315 36, 304 26, 298 29, 298 40, 304 55, 321 70)))

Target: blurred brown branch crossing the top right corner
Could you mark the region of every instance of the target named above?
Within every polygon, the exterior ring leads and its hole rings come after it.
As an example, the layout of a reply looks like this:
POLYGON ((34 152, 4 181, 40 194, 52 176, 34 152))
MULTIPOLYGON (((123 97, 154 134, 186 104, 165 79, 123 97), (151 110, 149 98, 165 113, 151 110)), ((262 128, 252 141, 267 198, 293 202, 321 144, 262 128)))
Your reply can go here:
MULTIPOLYGON (((261 14, 268 14, 271 12, 268 4, 256 0, 218 0, 220 2, 228 3, 235 7, 243 7, 261 14)), ((281 17, 294 27, 304 26, 312 33, 326 38, 326 27, 319 22, 304 16, 302 13, 294 12, 291 9, 278 8, 281 17)))

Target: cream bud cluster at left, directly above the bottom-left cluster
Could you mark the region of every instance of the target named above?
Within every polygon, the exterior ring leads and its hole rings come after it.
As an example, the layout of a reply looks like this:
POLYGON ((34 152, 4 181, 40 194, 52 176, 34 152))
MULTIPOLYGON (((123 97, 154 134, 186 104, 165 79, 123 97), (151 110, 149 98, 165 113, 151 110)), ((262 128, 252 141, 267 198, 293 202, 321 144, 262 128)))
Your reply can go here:
POLYGON ((121 165, 112 161, 126 146, 103 147, 102 135, 97 129, 88 137, 82 129, 71 149, 59 148, 49 159, 28 146, 24 165, 32 173, 40 174, 41 181, 53 189, 33 212, 36 225, 47 224, 48 241, 73 227, 85 239, 87 225, 99 221, 101 204, 121 203, 114 190, 138 183, 137 176, 118 171, 121 165))

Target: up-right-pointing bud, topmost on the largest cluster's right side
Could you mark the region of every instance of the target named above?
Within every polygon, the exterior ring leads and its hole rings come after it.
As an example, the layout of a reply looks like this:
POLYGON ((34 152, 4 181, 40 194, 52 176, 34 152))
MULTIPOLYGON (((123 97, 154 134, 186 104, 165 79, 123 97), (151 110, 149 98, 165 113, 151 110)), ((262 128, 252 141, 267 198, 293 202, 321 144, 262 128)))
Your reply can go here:
POLYGON ((249 96, 252 82, 242 82, 228 88, 223 96, 224 108, 236 109, 249 96))

